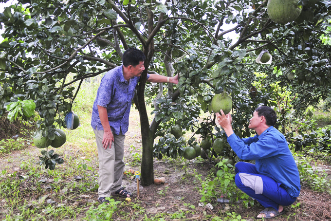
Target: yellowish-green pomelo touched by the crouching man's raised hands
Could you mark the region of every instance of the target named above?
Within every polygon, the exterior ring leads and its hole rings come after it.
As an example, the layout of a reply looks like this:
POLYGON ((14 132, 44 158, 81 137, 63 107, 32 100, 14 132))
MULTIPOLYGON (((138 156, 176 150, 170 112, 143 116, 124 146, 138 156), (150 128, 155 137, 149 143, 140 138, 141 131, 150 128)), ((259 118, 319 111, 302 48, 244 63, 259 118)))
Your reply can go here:
POLYGON ((224 114, 227 114, 231 111, 231 109, 232 99, 227 92, 215 94, 215 96, 211 100, 211 110, 214 111, 214 113, 221 113, 220 110, 223 110, 224 114))

